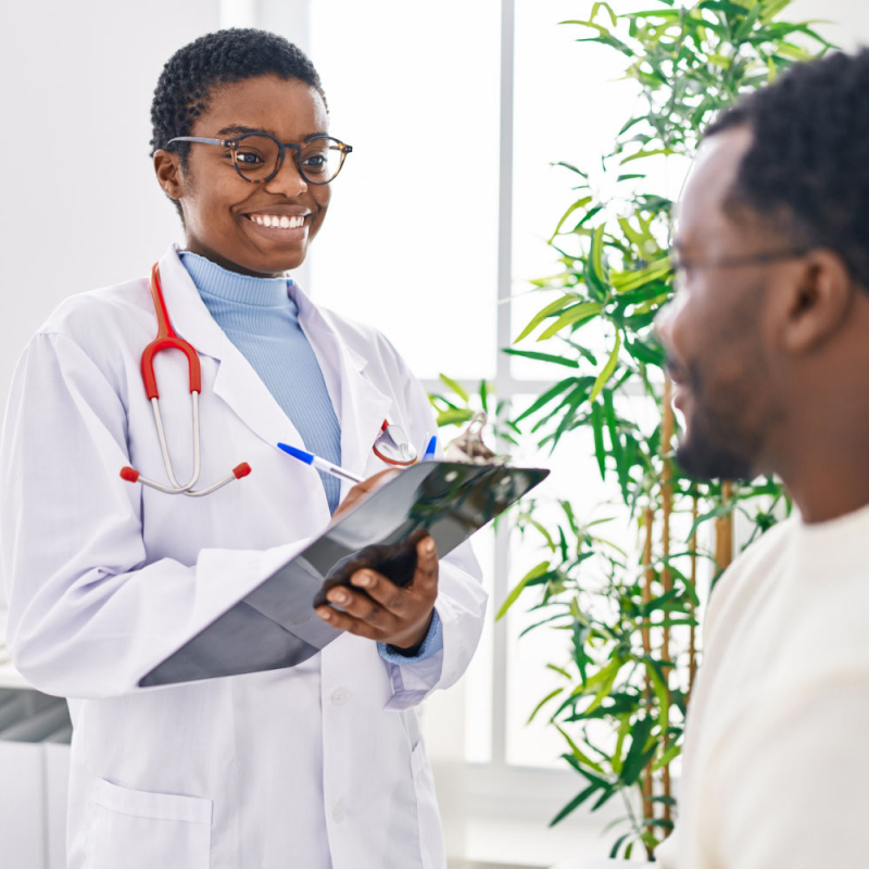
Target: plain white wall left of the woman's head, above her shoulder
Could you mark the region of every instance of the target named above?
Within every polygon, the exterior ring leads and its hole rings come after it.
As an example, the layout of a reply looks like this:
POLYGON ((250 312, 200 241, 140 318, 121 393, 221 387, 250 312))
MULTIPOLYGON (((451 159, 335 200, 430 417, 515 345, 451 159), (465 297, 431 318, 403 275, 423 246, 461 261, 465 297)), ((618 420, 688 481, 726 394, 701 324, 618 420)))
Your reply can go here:
POLYGON ((218 11, 218 0, 3 4, 3 401, 61 299, 147 274, 180 237, 148 156, 151 96, 168 56, 215 29, 218 11))

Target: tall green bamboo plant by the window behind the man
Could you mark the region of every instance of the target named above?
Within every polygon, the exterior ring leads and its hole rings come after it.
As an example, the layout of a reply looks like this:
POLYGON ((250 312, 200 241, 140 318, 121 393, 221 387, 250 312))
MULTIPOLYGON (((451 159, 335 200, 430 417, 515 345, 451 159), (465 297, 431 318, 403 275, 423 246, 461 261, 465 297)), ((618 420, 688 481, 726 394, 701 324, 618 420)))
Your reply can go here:
POLYGON ((494 412, 502 446, 531 438, 552 452, 568 432, 589 429, 597 473, 633 519, 634 551, 621 552, 599 536, 594 521, 581 524, 570 501, 559 504, 555 521, 541 518, 540 501, 524 505, 515 525, 543 558, 498 614, 504 617, 521 599, 534 615, 531 630, 565 638, 564 659, 549 665, 561 683, 531 713, 557 729, 564 760, 581 779, 552 823, 581 805, 595 810, 620 796, 626 811, 613 857, 630 858, 639 847, 654 859, 673 826, 670 765, 681 752, 700 655, 698 569, 710 565, 714 580, 730 563, 735 512, 744 515, 751 542, 789 507, 774 480, 695 483, 673 463, 678 431, 653 331, 672 295, 672 202, 650 189, 642 167, 691 158, 716 112, 831 48, 810 23, 782 18, 789 4, 650 0, 653 9, 619 14, 614 0, 593 3, 588 17, 561 22, 580 46, 622 54, 626 76, 642 91, 640 108, 603 158, 618 207, 595 193, 583 168, 556 164, 577 191, 549 241, 558 270, 532 282, 530 291, 545 303, 518 335, 518 347, 504 351, 543 362, 551 386, 514 415, 504 401, 490 406, 488 385, 471 396, 444 378, 443 394, 432 396, 442 425, 461 424, 478 406, 494 412), (590 332, 605 336, 603 353, 600 338, 587 339, 590 332), (651 429, 626 410, 625 396, 639 394, 657 407, 651 429), (677 533, 677 521, 687 530, 677 533))

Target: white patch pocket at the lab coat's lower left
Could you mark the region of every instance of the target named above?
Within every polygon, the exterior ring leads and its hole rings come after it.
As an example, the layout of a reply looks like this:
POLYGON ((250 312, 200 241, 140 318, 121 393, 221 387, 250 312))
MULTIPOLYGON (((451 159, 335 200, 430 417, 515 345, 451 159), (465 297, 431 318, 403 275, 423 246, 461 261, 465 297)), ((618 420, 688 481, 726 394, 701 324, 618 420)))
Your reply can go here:
POLYGON ((88 869, 209 869, 212 801, 121 788, 95 779, 88 869))

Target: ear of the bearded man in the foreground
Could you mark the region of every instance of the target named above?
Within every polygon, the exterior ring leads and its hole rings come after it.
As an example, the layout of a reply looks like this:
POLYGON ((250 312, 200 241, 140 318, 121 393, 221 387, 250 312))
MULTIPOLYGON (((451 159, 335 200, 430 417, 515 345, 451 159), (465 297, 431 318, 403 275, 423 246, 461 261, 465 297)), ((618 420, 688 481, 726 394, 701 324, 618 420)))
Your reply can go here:
POLYGON ((833 251, 810 251, 794 268, 796 281, 788 288, 770 289, 783 295, 780 300, 783 349, 803 354, 836 332, 854 303, 856 288, 844 261, 833 251))

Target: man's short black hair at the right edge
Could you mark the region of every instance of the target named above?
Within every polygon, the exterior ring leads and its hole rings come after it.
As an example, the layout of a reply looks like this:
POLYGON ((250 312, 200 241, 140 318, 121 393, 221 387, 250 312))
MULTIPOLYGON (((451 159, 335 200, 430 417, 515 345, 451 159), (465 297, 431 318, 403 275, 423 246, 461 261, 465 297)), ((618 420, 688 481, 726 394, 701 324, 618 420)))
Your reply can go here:
POLYGON ((869 50, 795 64, 706 137, 734 127, 753 143, 728 207, 772 218, 795 245, 834 251, 869 289, 869 50))

